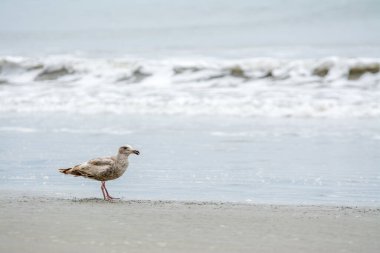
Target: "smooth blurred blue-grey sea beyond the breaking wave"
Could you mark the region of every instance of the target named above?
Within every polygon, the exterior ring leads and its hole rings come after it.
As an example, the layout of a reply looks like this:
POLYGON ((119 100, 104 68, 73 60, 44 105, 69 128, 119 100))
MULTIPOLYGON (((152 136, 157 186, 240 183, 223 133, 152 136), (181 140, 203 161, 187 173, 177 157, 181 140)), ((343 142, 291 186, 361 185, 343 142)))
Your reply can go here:
POLYGON ((3 0, 0 53, 379 57, 377 0, 3 0))

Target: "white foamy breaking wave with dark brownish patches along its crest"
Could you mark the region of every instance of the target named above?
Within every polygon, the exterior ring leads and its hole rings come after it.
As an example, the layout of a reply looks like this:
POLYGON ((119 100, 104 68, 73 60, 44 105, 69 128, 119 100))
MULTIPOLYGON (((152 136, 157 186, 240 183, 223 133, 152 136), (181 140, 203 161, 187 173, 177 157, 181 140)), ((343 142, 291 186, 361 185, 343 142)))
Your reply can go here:
POLYGON ((380 59, 2 57, 0 111, 379 117, 380 59))

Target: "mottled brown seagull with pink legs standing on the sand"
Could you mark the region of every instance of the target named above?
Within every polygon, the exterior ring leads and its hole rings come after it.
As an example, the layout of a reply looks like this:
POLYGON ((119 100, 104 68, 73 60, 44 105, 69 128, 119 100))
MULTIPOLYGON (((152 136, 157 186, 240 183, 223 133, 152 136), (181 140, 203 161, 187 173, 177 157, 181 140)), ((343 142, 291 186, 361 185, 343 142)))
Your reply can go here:
POLYGON ((101 181, 104 200, 110 201, 113 198, 106 188, 106 181, 121 177, 128 168, 128 157, 130 154, 139 155, 140 152, 130 145, 122 146, 116 156, 102 157, 89 160, 72 168, 59 169, 63 174, 74 175, 76 177, 86 177, 101 181))

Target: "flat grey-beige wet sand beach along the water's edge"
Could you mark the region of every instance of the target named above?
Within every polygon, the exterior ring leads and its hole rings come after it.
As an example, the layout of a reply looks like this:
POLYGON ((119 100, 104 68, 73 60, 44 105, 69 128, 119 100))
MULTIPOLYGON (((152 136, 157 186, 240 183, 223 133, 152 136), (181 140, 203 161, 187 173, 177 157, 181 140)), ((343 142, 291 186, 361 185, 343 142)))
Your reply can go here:
POLYGON ((380 252, 380 208, 0 194, 0 252, 380 252))

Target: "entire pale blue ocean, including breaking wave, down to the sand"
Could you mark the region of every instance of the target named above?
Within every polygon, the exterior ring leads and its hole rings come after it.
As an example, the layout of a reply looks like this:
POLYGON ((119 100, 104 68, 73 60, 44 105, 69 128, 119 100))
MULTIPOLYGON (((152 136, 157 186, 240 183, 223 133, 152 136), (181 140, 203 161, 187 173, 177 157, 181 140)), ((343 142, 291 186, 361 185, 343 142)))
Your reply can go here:
POLYGON ((131 199, 379 205, 380 2, 0 2, 0 189, 131 144, 131 199))

